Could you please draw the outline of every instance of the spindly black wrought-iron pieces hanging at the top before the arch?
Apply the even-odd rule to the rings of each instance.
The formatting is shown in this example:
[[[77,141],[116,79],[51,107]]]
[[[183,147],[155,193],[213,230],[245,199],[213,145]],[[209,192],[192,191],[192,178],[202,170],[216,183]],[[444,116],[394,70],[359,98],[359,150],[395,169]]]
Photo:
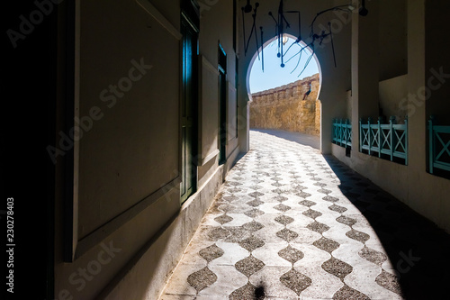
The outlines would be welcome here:
[[[243,34],[244,34],[244,49],[245,49],[245,55],[247,55],[247,50],[248,50],[248,45],[250,44],[250,40],[253,36],[253,34],[255,33],[255,41],[256,41],[256,46],[257,46],[257,57],[258,59],[263,59],[262,60],[262,68],[264,71],[264,49],[261,48],[261,57],[259,55],[259,42],[257,39],[257,8],[259,7],[259,3],[255,3],[255,7],[253,7],[253,5],[250,4],[250,0],[247,0],[247,5],[245,5],[244,7],[242,7],[242,23],[243,23]],[[302,68],[302,71],[300,72],[300,74],[298,75],[298,77],[300,77],[303,73],[303,71],[308,67],[308,65],[310,64],[311,59],[314,57],[315,54],[315,49],[316,47],[319,45],[323,44],[323,41],[326,38],[330,38],[330,43],[331,43],[331,50],[333,52],[333,61],[334,61],[334,65],[335,67],[337,67],[337,61],[336,61],[336,52],[335,52],[335,47],[334,47],[334,41],[333,41],[333,32],[332,32],[332,27],[331,27],[331,23],[328,23],[328,30],[322,30],[321,32],[316,32],[315,28],[314,28],[314,24],[317,21],[318,17],[321,14],[326,14],[329,12],[333,12],[333,11],[342,11],[342,12],[347,12],[347,13],[352,13],[355,10],[355,7],[351,4],[349,5],[338,5],[338,6],[334,6],[331,7],[329,9],[323,10],[319,13],[317,13],[315,15],[315,17],[313,18],[312,22],[311,22],[311,32],[310,32],[310,36],[309,38],[311,39],[311,41],[309,42],[305,42],[302,40],[302,15],[300,11],[284,11],[284,0],[280,0],[280,3],[278,5],[278,12],[276,14],[269,12],[268,15],[274,20],[275,22],[275,36],[277,39],[277,47],[278,47],[278,53],[277,53],[277,57],[280,59],[280,67],[284,68],[286,66],[286,64],[288,62],[290,62],[292,59],[294,58],[298,58],[297,60],[297,64],[295,66],[295,68],[293,68],[293,71],[291,72],[291,74],[300,66],[300,62],[302,60],[302,53],[303,51],[306,51],[307,49],[311,50],[311,54],[308,57],[308,59],[306,59],[306,62]],[[252,29],[251,32],[248,36],[248,38],[246,37],[246,22],[245,22],[245,15],[249,14],[253,12],[252,14],[252,18],[253,18],[253,24],[252,24]],[[284,45],[285,45],[285,41],[286,41],[286,35],[285,35],[285,29],[287,28],[291,28],[291,23],[288,21],[287,19],[287,14],[295,14],[297,16],[297,22],[298,22],[298,36],[297,39],[287,48],[287,50],[284,50]],[[361,16],[365,16],[368,14],[368,10],[365,7],[365,0],[362,0],[362,4],[361,7],[359,8],[359,14]],[[264,32],[263,32],[263,27],[260,26],[260,36],[261,36],[261,47],[263,46],[263,42],[264,42]],[[305,44],[305,46],[302,46],[302,44],[300,42],[303,42]],[[300,47],[300,49],[297,49],[297,52],[295,54],[293,54],[291,57],[289,57],[288,59],[285,59],[285,56],[290,53],[290,50],[294,47]]]

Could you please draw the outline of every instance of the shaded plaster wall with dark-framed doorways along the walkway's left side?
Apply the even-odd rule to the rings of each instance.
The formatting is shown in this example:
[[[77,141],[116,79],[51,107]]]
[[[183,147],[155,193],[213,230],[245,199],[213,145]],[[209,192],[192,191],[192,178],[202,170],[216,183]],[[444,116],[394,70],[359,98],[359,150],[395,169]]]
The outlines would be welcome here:
[[[233,4],[210,3],[201,14],[200,159],[197,191],[184,205],[180,1],[77,1],[75,18],[76,125],[86,130],[74,147],[73,215],[67,183],[57,186],[54,298],[157,299],[238,157]],[[227,52],[229,90],[228,161],[220,166],[218,41]],[[67,223],[75,227],[71,243]],[[75,258],[63,257],[67,245]]]

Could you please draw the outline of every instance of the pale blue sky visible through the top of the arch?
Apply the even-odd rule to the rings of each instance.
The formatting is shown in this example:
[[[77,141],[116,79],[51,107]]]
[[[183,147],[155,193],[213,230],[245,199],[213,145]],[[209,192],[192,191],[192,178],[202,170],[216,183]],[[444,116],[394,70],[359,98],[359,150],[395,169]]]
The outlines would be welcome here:
[[[294,41],[295,40],[289,38],[289,41],[284,46],[284,51],[287,50]],[[310,63],[308,64],[308,67],[303,71],[302,75],[298,77],[302,72],[307,59],[311,55],[310,50],[303,50],[302,60],[300,61],[299,66],[294,71],[293,69],[299,61],[299,56],[296,56],[289,62],[286,62],[301,49],[299,45],[293,45],[291,50],[289,50],[289,52],[284,56],[285,67],[281,68],[281,59],[276,56],[276,54],[278,53],[277,46],[278,42],[277,40],[275,40],[267,45],[264,49],[264,72],[262,70],[261,52],[259,53],[260,59],[255,60],[255,63],[253,64],[250,72],[249,79],[250,91],[252,94],[264,91],[269,88],[284,86],[304,77],[310,77],[313,74],[319,73],[319,68],[317,66],[316,60],[312,58]],[[291,72],[293,73],[291,74]]]

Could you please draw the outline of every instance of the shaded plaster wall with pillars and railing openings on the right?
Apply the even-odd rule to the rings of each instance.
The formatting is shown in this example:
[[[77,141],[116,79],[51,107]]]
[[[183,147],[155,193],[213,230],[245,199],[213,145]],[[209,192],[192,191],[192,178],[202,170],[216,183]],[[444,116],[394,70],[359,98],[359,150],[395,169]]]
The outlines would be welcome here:
[[[426,23],[425,23],[425,0],[408,1],[408,69],[407,77],[396,77],[392,80],[380,84],[383,90],[383,101],[389,102],[392,107],[397,107],[398,97],[404,95],[405,81],[406,93],[417,95],[420,88],[427,85],[426,68]],[[354,36],[358,35],[360,27],[353,27]],[[354,58],[361,55],[361,44],[353,45]],[[363,46],[364,47],[364,46]],[[376,61],[382,64],[382,61]],[[361,112],[358,114],[358,107],[366,105],[365,98],[358,98],[361,93],[355,91],[360,88],[358,81],[378,80],[365,77],[361,73],[361,66],[356,61],[354,64],[352,77],[356,86],[353,90],[353,137],[354,147],[351,158],[345,156],[345,149],[332,144],[332,153],[338,159],[344,161],[348,166],[358,173],[369,178],[375,185],[399,198],[413,210],[427,217],[437,226],[450,232],[450,195],[449,180],[443,177],[436,177],[427,173],[427,140],[426,140],[426,105],[416,105],[412,97],[408,97],[407,105],[414,105],[414,114],[409,115],[409,165],[392,163],[391,161],[371,157],[358,151],[357,122]],[[364,70],[363,70],[364,72]],[[363,85],[364,86],[364,85]],[[396,89],[396,87],[398,87]]]

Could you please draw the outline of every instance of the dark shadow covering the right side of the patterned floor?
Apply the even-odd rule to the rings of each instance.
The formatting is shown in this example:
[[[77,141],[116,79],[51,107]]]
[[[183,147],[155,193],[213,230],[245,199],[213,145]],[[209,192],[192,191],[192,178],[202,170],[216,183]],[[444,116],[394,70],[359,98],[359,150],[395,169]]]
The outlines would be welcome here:
[[[407,300],[450,299],[450,234],[335,157],[324,157],[342,193],[374,228],[396,269],[400,286],[395,277],[385,277],[383,284],[397,285]]]

